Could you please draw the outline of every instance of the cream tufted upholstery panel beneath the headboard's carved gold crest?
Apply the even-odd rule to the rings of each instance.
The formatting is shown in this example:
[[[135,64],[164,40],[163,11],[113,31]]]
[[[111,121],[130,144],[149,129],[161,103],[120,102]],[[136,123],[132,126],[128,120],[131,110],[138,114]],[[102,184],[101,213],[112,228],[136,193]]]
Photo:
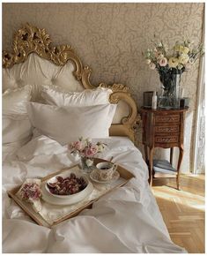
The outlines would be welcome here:
[[[63,66],[58,66],[32,53],[24,63],[3,70],[3,89],[31,84],[55,85],[70,92],[83,91],[84,87],[75,79],[72,72],[74,72],[74,65],[70,61]]]

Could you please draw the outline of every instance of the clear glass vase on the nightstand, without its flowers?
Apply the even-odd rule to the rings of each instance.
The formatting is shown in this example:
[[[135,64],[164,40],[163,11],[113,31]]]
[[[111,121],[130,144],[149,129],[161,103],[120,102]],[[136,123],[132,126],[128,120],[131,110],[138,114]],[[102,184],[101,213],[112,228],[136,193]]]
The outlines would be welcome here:
[[[181,73],[159,74],[163,94],[159,97],[160,109],[179,109]]]

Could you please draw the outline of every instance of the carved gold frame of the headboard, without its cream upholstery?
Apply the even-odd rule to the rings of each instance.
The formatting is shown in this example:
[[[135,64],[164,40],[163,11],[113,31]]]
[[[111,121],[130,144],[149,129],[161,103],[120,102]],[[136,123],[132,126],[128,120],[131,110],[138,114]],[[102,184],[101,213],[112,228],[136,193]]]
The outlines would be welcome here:
[[[31,53],[36,53],[56,65],[64,65],[69,60],[74,64],[74,77],[80,81],[84,88],[94,88],[90,82],[92,70],[83,66],[78,55],[71,49],[70,45],[52,46],[49,35],[45,29],[26,24],[14,34],[12,51],[3,51],[3,67],[11,68],[14,64],[26,61]],[[111,136],[128,136],[134,141],[135,124],[137,122],[137,105],[129,94],[129,87],[122,84],[106,85],[100,83],[100,87],[108,87],[113,90],[109,101],[118,103],[126,102],[129,106],[128,117],[122,117],[121,124],[112,124],[110,127]]]

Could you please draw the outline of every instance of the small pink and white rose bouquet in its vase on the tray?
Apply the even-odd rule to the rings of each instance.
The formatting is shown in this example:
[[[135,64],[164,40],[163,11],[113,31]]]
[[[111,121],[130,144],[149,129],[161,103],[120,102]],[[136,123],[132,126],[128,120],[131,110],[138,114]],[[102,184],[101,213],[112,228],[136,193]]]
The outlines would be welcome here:
[[[107,145],[102,142],[92,143],[92,139],[79,138],[78,141],[69,145],[71,154],[78,154],[81,157],[82,169],[89,172],[92,169],[95,154],[103,152]]]

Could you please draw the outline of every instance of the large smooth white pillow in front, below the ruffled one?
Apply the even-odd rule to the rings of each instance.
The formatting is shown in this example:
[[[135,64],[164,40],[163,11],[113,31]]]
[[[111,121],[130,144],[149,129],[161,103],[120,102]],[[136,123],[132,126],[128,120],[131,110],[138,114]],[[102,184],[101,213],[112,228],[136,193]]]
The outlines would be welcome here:
[[[115,115],[116,105],[90,107],[57,107],[28,102],[31,123],[41,134],[64,145],[85,138],[106,138]]]

